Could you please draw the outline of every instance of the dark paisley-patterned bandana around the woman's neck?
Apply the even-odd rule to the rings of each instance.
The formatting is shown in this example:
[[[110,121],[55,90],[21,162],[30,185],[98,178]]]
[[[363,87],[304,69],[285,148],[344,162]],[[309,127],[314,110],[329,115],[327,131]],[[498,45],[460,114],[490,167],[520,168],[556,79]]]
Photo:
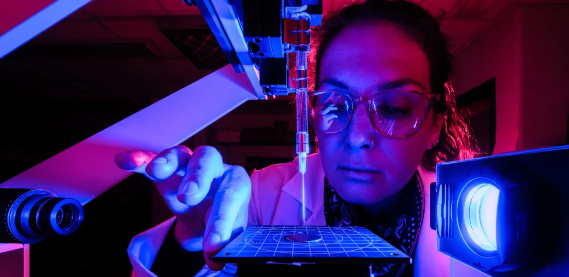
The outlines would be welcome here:
[[[423,221],[423,184],[419,172],[403,187],[388,211],[370,218],[364,208],[345,202],[324,178],[324,215],[327,225],[364,226],[413,258]],[[375,276],[413,276],[413,266],[381,263],[372,265]]]

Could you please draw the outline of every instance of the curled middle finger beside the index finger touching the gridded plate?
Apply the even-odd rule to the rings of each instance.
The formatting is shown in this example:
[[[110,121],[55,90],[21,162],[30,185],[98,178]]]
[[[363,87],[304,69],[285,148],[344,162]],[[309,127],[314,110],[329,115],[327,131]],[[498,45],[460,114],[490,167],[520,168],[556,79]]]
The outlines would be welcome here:
[[[224,173],[221,154],[211,146],[200,146],[188,161],[184,178],[178,188],[178,200],[197,205],[207,196],[213,179]]]

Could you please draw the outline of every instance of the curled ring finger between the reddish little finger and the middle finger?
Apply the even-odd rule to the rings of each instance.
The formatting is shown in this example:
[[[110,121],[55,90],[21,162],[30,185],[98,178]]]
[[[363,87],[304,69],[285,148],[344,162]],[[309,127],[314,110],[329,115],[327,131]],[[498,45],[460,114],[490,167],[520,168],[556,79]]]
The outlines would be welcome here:
[[[146,166],[146,173],[159,181],[168,179],[179,171],[185,170],[192,157],[192,150],[184,145],[177,145],[162,151]]]

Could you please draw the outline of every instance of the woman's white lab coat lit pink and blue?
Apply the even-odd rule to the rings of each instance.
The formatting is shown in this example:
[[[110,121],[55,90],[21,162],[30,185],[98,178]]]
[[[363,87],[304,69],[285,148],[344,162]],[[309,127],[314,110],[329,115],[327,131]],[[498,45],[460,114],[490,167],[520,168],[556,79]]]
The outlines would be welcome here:
[[[424,217],[413,260],[415,276],[450,276],[450,258],[436,249],[436,232],[430,228],[430,184],[435,173],[419,166],[423,183]],[[305,178],[306,223],[325,225],[324,170],[318,153],[307,158]],[[300,225],[302,222],[302,190],[298,161],[273,165],[251,174],[249,225]],[[133,266],[133,276],[156,276],[149,269],[168,234],[174,218],[133,238],[127,253]],[[195,276],[233,276],[236,267],[225,266],[222,271],[211,271],[207,266]]]

